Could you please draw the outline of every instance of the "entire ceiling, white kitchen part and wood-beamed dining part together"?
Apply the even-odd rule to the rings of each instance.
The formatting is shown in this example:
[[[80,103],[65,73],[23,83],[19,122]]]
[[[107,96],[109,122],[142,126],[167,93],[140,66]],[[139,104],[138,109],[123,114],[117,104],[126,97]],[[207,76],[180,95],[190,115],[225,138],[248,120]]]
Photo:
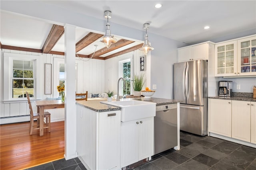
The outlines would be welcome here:
[[[92,57],[94,46],[98,45],[93,58],[103,60],[140,48],[143,23],[150,23],[148,37],[152,47],[156,47],[152,35],[154,39],[162,36],[186,46],[256,33],[255,0],[159,2],[162,8],[157,9],[157,0],[0,0],[0,46],[64,55],[65,23],[76,25],[76,57]],[[118,40],[109,48],[98,41],[105,29],[104,10],[112,11],[110,29]],[[207,30],[206,25],[210,26]],[[127,30],[130,32],[121,33]]]

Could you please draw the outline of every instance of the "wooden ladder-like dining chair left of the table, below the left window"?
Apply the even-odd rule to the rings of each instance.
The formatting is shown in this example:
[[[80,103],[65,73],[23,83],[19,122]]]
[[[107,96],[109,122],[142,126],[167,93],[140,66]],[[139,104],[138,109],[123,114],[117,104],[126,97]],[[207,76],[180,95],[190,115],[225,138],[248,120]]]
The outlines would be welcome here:
[[[30,102],[30,98],[28,95],[28,92],[26,92],[26,96],[28,99],[28,105],[29,105],[29,110],[30,110],[30,128],[29,128],[29,132],[30,135],[32,135],[33,130],[39,129],[39,119],[40,119],[40,115],[39,113],[33,113],[33,109],[32,109],[32,105]],[[51,131],[51,113],[49,113],[48,111],[44,112],[44,117],[46,118],[46,126],[44,126],[44,129],[48,128],[48,132]],[[34,119],[37,119],[37,124],[34,125]]]

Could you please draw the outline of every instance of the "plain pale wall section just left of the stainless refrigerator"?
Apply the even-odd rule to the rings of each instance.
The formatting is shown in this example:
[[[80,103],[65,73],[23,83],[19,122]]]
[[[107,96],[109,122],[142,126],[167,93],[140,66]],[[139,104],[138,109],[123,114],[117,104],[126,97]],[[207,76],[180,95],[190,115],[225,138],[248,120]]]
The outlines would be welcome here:
[[[178,62],[177,48],[182,43],[148,33],[151,46],[151,88],[156,84],[153,97],[173,99],[173,64]]]

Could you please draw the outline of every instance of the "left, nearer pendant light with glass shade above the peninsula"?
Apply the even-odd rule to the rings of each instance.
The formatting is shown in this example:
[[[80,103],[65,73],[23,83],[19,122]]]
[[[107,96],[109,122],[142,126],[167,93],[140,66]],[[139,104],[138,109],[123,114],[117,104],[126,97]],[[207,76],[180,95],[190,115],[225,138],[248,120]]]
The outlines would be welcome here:
[[[111,18],[111,11],[104,11],[105,18]],[[107,22],[106,23],[106,32],[103,37],[99,39],[100,42],[104,43],[105,46],[108,48],[112,43],[116,43],[117,39],[114,38],[113,35],[111,35],[110,31],[110,24]]]

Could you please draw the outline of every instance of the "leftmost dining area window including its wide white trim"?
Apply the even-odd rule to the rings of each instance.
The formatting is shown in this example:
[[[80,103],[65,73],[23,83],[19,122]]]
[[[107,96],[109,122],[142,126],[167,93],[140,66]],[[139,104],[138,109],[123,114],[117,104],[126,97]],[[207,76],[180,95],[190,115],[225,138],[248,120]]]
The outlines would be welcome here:
[[[4,53],[4,101],[41,99],[42,55]]]

